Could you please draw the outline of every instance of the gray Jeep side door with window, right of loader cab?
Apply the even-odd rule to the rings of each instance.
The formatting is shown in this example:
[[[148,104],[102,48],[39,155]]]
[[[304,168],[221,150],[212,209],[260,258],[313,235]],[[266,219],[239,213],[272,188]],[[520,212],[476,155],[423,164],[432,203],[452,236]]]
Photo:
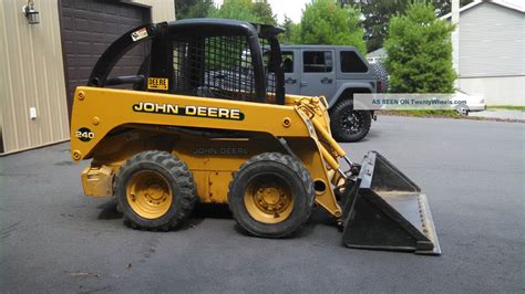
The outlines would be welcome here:
[[[336,66],[333,50],[301,50],[302,69],[300,94],[308,96],[323,95],[330,99],[336,94]]]

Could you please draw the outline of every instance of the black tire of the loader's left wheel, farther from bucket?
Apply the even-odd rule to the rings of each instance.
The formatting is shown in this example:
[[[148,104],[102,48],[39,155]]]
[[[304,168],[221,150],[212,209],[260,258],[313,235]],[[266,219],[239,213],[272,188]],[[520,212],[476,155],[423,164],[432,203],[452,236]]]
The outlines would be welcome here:
[[[172,192],[167,211],[158,218],[144,218],[135,211],[128,200],[130,180],[140,172],[152,172],[165,179]],[[150,150],[130,158],[119,170],[114,192],[124,223],[133,229],[168,231],[179,225],[193,211],[197,200],[195,182],[186,164],[166,151]]]

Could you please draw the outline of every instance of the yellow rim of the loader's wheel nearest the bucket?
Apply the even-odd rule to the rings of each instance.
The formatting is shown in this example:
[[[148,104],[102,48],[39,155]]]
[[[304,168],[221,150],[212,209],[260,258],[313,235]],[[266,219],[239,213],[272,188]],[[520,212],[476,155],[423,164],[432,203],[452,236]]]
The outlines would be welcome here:
[[[244,200],[250,217],[264,223],[282,222],[294,210],[290,188],[276,176],[253,179],[245,191]]]

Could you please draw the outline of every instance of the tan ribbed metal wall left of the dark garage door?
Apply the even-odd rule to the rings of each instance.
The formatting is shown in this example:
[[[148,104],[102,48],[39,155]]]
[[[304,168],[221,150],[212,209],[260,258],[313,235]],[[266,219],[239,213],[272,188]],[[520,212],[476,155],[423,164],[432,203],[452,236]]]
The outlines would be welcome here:
[[[0,111],[4,151],[69,138],[58,0],[34,1],[40,23],[22,13],[25,0],[0,1]],[[29,118],[29,108],[37,118]]]

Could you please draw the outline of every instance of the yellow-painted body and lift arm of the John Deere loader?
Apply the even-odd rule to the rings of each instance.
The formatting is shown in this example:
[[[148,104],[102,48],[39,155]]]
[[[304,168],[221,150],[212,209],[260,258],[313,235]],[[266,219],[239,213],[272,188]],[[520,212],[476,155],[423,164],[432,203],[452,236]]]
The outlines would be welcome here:
[[[325,160],[321,156],[322,149],[337,150],[339,147],[331,146],[332,141],[320,140],[330,134],[322,97],[313,99],[289,95],[285,105],[272,105],[97,87],[78,87],[75,97],[80,92],[83,92],[84,98],[74,99],[71,132],[75,134],[78,129],[89,126],[95,136],[89,141],[73,137],[71,150],[75,161],[92,158],[92,166],[106,166],[116,172],[125,160],[137,153],[165,150],[186,162],[194,176],[200,202],[226,203],[229,182],[240,165],[261,153],[287,154],[278,140],[284,138],[312,179],[330,183],[336,177],[325,161],[337,164],[336,155],[325,157]],[[142,107],[144,103],[152,103],[156,112],[137,112],[136,107],[143,109],[141,106],[134,109],[134,105],[140,103],[143,103]],[[187,106],[192,106],[192,115],[179,115],[181,109]],[[152,106],[147,107],[151,109]],[[165,109],[167,113],[163,113]],[[202,115],[198,115],[198,109],[202,109]],[[219,117],[219,109],[228,114]],[[92,124],[95,116],[100,118],[97,125]],[[315,125],[311,123],[313,118]],[[290,123],[284,124],[285,120]],[[209,130],[220,135],[206,136]],[[326,191],[316,193],[316,201],[339,218],[341,209],[332,188],[327,187]],[[268,201],[271,202],[271,199]]]

